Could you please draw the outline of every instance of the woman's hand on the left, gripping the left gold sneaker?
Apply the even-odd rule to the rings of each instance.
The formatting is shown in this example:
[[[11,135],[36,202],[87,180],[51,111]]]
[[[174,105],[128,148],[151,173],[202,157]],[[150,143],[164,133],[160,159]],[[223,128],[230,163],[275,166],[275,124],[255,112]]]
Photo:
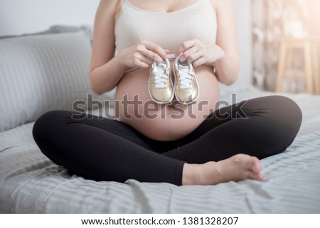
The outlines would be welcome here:
[[[149,67],[151,63],[156,61],[161,63],[166,59],[166,54],[169,50],[161,48],[159,45],[150,43],[148,41],[142,41],[129,48],[122,50],[119,63],[125,67]]]

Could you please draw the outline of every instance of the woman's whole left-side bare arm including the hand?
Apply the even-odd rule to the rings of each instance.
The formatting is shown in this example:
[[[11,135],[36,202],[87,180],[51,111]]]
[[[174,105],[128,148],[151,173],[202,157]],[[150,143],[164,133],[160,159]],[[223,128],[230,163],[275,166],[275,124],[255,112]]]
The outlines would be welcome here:
[[[114,21],[121,6],[122,1],[100,0],[95,16],[90,82],[97,94],[116,87],[128,67],[149,67],[154,61],[161,63],[169,53],[159,45],[142,41],[114,56]]]

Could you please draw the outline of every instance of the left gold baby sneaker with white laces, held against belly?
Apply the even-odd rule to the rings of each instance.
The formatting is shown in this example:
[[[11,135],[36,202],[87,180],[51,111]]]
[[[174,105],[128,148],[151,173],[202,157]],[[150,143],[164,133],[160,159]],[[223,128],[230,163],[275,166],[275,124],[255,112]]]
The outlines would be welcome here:
[[[158,104],[169,104],[174,99],[174,87],[168,59],[150,65],[148,89],[151,99]]]

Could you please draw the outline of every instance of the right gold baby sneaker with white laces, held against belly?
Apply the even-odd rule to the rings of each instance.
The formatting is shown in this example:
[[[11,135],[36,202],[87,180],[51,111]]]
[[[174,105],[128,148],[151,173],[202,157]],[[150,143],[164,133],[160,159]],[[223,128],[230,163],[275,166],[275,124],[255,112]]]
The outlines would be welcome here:
[[[182,55],[182,54],[181,54]],[[193,104],[199,97],[199,86],[191,63],[179,61],[179,55],[174,61],[174,93],[180,104]]]

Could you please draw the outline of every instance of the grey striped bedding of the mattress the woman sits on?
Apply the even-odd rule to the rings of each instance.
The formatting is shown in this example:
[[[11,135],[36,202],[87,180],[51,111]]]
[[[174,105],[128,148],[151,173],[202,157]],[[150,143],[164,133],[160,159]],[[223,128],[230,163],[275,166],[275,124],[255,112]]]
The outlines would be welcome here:
[[[232,95],[235,94],[235,95]],[[222,87],[230,103],[273,94]],[[284,153],[262,160],[264,182],[218,185],[96,182],[55,165],[33,141],[33,123],[0,133],[1,213],[320,213],[320,97],[283,94],[304,115]]]

